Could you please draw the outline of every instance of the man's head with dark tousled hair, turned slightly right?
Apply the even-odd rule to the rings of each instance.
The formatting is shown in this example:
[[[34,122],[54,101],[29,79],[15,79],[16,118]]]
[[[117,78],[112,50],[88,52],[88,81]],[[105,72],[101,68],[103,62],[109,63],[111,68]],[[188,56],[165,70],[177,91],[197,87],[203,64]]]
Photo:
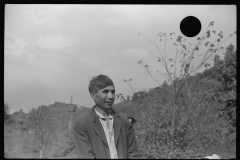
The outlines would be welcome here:
[[[102,109],[112,107],[115,100],[115,87],[113,81],[105,76],[99,75],[90,80],[88,90],[96,105]]]

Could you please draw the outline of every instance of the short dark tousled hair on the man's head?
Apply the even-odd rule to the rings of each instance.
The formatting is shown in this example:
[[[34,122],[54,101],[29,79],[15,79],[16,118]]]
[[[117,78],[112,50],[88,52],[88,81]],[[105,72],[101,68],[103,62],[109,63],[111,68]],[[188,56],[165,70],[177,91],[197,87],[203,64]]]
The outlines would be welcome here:
[[[88,85],[88,90],[90,93],[96,93],[99,89],[111,85],[114,87],[113,81],[108,76],[100,74],[99,76],[92,77]]]

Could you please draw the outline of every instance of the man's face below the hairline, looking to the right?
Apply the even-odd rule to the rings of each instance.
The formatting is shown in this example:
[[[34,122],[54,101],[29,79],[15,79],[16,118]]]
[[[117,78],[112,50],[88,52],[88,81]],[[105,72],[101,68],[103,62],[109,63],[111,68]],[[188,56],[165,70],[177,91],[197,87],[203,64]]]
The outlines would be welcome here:
[[[103,109],[111,108],[115,100],[115,88],[112,85],[107,86],[91,95],[97,106]]]

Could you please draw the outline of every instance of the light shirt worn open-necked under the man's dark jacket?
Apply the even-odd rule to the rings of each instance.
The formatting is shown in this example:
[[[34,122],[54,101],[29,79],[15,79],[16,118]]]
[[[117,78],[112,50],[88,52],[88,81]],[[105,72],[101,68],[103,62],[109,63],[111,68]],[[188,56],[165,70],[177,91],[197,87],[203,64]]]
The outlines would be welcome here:
[[[114,130],[113,130],[113,116],[110,114],[108,118],[104,117],[100,112],[94,108],[96,114],[99,117],[99,121],[102,124],[105,136],[108,142],[111,159],[118,159],[116,146],[114,143]]]

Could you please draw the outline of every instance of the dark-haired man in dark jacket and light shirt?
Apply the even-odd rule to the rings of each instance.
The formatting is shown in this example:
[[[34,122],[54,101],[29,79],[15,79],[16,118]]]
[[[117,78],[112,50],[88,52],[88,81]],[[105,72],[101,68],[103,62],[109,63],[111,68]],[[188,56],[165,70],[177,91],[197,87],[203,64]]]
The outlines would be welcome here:
[[[88,89],[96,105],[74,125],[79,158],[138,158],[132,125],[124,118],[126,116],[112,109],[113,81],[99,75],[93,77]]]

